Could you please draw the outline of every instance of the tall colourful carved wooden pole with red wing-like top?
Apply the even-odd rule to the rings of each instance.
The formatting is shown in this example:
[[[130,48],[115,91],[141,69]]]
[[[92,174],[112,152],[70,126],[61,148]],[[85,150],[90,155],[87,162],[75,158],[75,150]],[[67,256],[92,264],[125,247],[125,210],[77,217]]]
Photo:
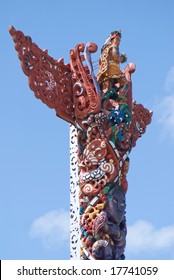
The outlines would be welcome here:
[[[21,31],[12,26],[9,31],[30,89],[71,124],[71,184],[78,195],[73,194],[73,232],[80,234],[73,243],[79,242],[80,259],[123,260],[129,153],[152,112],[132,100],[135,64],[120,69],[127,60],[119,52],[121,31],[104,43],[97,75],[91,60],[96,44],[78,44],[70,51],[70,64],[64,64]]]

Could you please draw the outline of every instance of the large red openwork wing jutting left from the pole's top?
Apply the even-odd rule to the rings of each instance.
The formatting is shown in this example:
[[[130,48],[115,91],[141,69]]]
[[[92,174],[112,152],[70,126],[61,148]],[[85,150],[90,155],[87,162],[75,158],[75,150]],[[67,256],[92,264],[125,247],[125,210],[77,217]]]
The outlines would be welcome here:
[[[70,65],[65,65],[63,59],[53,59],[47,50],[41,50],[29,36],[15,30],[13,26],[10,26],[9,32],[22,70],[28,76],[29,87],[36,98],[49,108],[54,108],[57,116],[74,124]]]

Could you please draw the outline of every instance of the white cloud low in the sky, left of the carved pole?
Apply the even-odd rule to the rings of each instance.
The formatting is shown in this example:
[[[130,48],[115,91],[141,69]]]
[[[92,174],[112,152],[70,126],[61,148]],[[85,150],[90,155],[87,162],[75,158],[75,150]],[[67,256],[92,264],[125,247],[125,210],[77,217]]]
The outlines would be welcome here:
[[[65,210],[50,211],[31,225],[30,236],[40,239],[47,249],[56,249],[69,239],[70,213]]]

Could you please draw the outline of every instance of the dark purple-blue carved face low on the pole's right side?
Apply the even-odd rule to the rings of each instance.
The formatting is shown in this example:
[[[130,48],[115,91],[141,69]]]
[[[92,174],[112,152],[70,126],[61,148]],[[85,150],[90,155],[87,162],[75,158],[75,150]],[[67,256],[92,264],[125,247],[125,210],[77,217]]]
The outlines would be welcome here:
[[[121,187],[116,187],[108,196],[108,212],[113,222],[120,224],[126,209],[125,194]]]

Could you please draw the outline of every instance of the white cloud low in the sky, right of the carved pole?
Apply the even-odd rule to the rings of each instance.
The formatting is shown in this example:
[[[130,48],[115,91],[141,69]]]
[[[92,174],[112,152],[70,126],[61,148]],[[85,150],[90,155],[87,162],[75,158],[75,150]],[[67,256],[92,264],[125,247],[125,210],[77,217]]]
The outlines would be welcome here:
[[[128,227],[127,248],[129,255],[139,253],[159,253],[174,251],[174,225],[156,229],[151,223],[143,220],[136,221]]]

